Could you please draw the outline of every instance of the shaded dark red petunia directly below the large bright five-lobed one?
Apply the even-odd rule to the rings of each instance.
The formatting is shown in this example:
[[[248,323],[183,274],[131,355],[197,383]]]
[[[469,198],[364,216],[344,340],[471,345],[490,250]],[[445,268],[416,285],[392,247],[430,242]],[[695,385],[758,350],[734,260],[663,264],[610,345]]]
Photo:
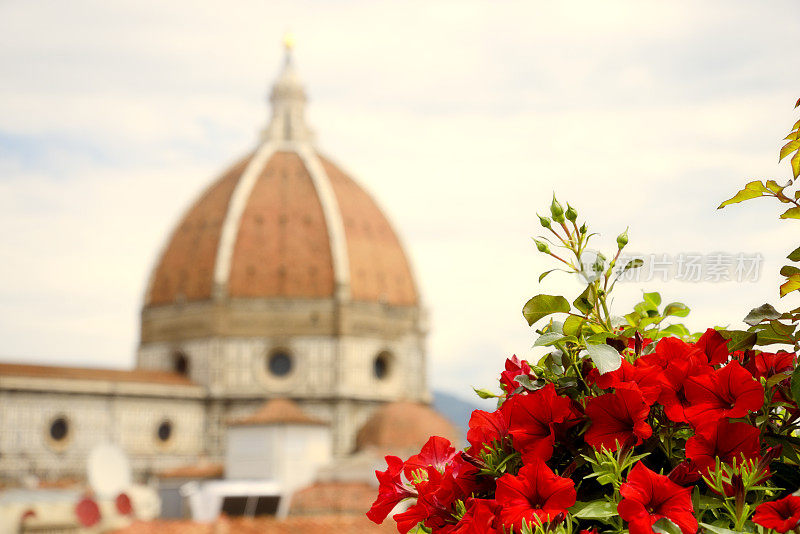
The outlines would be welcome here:
[[[761,455],[758,439],[758,429],[747,423],[710,421],[686,440],[686,458],[695,463],[699,472],[706,473],[716,466],[716,458],[727,464],[733,463],[734,458],[757,459]]]

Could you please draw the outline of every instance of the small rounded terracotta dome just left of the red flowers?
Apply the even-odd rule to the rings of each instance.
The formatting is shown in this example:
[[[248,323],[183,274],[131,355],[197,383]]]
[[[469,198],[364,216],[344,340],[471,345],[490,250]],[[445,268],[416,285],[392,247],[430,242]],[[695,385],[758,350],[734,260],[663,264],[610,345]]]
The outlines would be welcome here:
[[[379,408],[356,435],[356,451],[419,450],[431,436],[441,436],[454,446],[459,434],[443,415],[414,402],[392,402]]]

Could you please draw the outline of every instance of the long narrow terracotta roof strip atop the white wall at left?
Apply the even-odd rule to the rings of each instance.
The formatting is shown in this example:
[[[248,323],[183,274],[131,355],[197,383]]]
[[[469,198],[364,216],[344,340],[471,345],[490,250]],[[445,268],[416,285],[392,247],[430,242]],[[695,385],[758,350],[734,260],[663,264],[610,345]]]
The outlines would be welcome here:
[[[0,363],[0,377],[25,376],[32,378],[61,378],[71,380],[107,380],[109,382],[144,382],[193,386],[194,382],[179,373],[146,369],[96,369],[89,367],[57,367]]]

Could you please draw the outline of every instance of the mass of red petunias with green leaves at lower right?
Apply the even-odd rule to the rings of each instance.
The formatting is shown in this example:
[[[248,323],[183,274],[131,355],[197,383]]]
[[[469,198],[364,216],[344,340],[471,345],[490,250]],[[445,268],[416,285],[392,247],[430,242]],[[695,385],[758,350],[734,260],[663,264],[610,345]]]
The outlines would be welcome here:
[[[368,517],[406,502],[401,533],[741,532],[753,512],[765,528],[800,528],[800,497],[773,500],[797,489],[796,464],[773,470],[798,441],[795,355],[729,351],[713,329],[620,339],[617,369],[587,357],[569,380],[508,359],[498,408],[472,413],[468,447],[432,437],[405,462],[388,456]]]

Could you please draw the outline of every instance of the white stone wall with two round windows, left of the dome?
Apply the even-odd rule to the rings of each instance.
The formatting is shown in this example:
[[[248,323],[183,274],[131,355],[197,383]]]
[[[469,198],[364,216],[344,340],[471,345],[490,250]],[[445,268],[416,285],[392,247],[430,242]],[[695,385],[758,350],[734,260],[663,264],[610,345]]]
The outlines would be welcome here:
[[[61,442],[50,438],[57,417],[69,425]],[[89,451],[103,441],[119,445],[139,475],[193,462],[203,452],[204,419],[199,399],[0,390],[0,476],[82,477]],[[172,436],[161,442],[165,420]]]

